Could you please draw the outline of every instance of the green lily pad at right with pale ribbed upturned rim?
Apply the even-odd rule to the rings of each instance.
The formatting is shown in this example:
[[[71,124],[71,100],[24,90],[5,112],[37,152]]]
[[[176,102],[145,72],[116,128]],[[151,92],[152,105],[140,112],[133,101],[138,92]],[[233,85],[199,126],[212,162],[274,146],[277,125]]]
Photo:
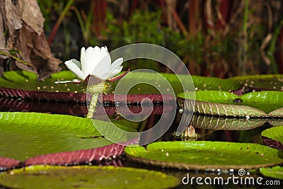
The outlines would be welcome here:
[[[192,92],[180,93],[178,97],[183,99],[193,99]],[[262,116],[275,116],[275,117],[282,117],[282,111],[277,111],[271,113],[272,111],[276,110],[277,108],[283,107],[283,92],[281,91],[260,91],[260,92],[253,92],[253,93],[246,93],[243,96],[236,96],[233,93],[229,93],[227,91],[196,91],[195,92],[195,100],[196,101],[204,101],[205,103],[196,103],[200,107],[196,106],[196,111],[200,108],[200,113],[208,113],[211,109],[216,110],[217,107],[219,110],[216,110],[216,114],[214,115],[226,115],[229,116],[229,111],[234,111],[237,113],[238,110],[241,110],[242,113],[239,113],[238,116],[248,115],[255,116],[255,117],[262,117]],[[183,103],[183,100],[179,99],[180,103]],[[205,106],[205,108],[203,108]],[[231,105],[231,106],[230,106]],[[234,106],[237,105],[237,106]],[[248,108],[250,107],[250,108]],[[203,109],[203,110],[202,110]],[[226,113],[225,113],[226,110]],[[263,113],[264,111],[265,113]],[[230,115],[235,116],[235,113],[230,113]],[[205,113],[204,113],[205,114]],[[258,116],[256,115],[258,114]],[[237,116],[237,115],[236,115]]]

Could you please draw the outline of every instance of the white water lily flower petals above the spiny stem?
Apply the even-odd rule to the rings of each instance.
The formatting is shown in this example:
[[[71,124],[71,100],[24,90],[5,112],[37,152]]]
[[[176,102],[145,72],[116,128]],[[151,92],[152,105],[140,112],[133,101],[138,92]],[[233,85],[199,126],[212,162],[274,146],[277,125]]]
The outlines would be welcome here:
[[[67,68],[76,74],[79,79],[85,80],[88,75],[100,79],[111,79],[122,71],[123,58],[116,59],[111,64],[111,58],[107,47],[81,48],[81,62],[76,59],[66,61]]]

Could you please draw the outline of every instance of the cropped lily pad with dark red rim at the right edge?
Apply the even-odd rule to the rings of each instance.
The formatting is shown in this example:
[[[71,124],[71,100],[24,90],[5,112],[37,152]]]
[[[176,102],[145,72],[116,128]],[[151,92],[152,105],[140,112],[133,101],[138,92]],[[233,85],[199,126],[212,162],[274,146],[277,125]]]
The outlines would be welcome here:
[[[283,126],[264,130],[261,132],[261,137],[267,146],[283,150]]]

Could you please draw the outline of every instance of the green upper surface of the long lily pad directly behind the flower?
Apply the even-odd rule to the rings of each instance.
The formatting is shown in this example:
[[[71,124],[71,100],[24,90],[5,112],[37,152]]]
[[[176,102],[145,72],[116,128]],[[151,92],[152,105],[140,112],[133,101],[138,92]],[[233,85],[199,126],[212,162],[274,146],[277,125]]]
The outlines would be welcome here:
[[[204,76],[191,76],[192,81],[188,81],[187,75],[178,75],[175,74],[165,74],[161,73],[161,75],[173,86],[175,93],[183,92],[183,88],[180,85],[180,81],[178,77],[185,81],[185,84],[195,84],[197,90],[221,90],[221,91],[229,91],[229,90],[236,90],[241,88],[241,84],[238,84],[238,81],[231,81],[228,79],[219,79],[214,77],[204,77]],[[156,81],[156,74],[151,72],[134,72],[127,76],[125,76],[129,81]],[[68,91],[80,91],[80,87],[74,84],[54,84],[54,81],[67,81],[76,79],[76,76],[71,71],[61,71],[59,73],[52,74],[49,79],[45,79],[45,81],[37,81],[37,75],[30,71],[6,71],[4,72],[4,76],[0,77],[0,84],[3,87],[7,88],[18,88],[23,90],[29,91],[61,91],[61,92],[68,92]],[[159,79],[160,80],[160,79]],[[161,80],[160,80],[161,81]],[[158,82],[158,81],[157,81]],[[115,82],[117,84],[117,82]],[[24,85],[23,85],[24,84]],[[161,83],[162,85],[162,83]],[[115,84],[114,84],[115,86]],[[143,85],[146,86],[148,85]],[[134,86],[134,88],[138,89],[140,86]],[[69,89],[68,89],[69,88]],[[141,94],[143,91],[146,90],[132,90],[132,91],[139,91]],[[149,91],[156,89],[147,88]]]

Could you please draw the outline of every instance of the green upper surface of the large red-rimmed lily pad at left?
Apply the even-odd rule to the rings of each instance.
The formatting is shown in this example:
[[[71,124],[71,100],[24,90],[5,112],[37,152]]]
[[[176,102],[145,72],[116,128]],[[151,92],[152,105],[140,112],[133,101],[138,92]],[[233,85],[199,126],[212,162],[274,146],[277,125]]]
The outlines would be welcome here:
[[[109,122],[93,122],[101,127],[110,127]],[[100,137],[93,122],[71,115],[0,113],[0,156],[23,161],[41,154],[93,149],[112,144]],[[129,132],[136,131],[117,126]],[[113,135],[121,142],[127,141],[120,134]]]

